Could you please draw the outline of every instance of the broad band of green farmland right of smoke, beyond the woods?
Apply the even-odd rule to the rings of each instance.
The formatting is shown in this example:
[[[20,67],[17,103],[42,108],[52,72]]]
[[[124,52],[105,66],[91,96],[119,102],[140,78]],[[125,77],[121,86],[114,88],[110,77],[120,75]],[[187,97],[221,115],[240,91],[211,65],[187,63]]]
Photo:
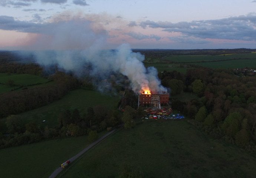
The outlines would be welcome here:
[[[145,66],[154,66],[158,72],[176,70],[186,73],[194,67],[235,69],[241,67],[256,68],[256,53],[232,53],[222,55],[166,55],[161,59],[146,56]]]

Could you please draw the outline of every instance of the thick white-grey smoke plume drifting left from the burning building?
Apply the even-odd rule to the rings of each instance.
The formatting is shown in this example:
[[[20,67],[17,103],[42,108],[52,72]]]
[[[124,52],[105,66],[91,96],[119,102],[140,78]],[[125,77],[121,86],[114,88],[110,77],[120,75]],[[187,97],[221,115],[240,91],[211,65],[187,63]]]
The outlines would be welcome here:
[[[161,85],[154,67],[146,68],[142,63],[145,59],[140,53],[134,53],[128,44],[122,44],[115,50],[105,50],[107,32],[100,26],[85,19],[71,19],[48,24],[43,28],[34,45],[39,49],[34,54],[37,63],[42,66],[58,65],[60,69],[71,71],[82,76],[84,68],[89,74],[104,79],[112,73],[127,76],[135,93],[143,89],[153,92],[167,91]]]

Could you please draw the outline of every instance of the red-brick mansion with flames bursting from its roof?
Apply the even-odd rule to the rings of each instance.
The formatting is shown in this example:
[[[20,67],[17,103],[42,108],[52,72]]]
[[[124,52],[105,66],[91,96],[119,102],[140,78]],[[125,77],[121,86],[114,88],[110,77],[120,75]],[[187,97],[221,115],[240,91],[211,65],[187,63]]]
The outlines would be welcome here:
[[[138,104],[140,106],[154,106],[160,108],[160,105],[168,104],[169,96],[167,92],[151,92],[145,90],[139,95]]]

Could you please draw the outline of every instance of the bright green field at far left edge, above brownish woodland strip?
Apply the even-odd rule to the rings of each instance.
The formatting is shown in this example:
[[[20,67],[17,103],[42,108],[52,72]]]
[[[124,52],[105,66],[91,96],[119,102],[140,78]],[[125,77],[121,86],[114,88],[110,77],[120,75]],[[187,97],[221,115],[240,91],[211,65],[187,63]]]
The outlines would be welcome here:
[[[13,80],[15,86],[4,85],[8,80]],[[48,82],[48,83],[47,83]],[[9,92],[13,89],[17,89],[20,86],[40,86],[49,85],[48,79],[41,76],[30,75],[30,74],[12,74],[12,73],[0,73],[0,94]]]

